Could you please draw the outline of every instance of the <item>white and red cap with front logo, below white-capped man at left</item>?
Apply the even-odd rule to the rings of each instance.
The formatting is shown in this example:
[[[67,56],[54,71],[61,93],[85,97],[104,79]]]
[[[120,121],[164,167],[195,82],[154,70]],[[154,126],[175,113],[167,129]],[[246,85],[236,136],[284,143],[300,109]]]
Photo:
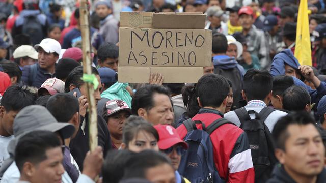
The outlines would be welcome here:
[[[65,82],[58,78],[49,78],[37,90],[38,95],[40,96],[44,90],[50,93],[50,95],[63,93],[65,92]]]

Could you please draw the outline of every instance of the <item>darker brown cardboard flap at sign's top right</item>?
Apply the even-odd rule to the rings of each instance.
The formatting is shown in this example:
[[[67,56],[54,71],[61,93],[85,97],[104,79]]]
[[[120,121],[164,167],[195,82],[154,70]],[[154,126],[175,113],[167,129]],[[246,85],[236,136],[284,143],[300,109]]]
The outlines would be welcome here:
[[[152,28],[204,29],[205,14],[164,14],[153,13]]]

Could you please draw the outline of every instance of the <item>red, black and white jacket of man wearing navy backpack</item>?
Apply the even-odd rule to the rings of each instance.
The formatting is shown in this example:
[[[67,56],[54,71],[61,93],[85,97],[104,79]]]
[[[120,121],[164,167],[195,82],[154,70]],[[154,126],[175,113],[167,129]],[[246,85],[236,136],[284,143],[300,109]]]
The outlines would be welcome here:
[[[209,126],[223,114],[213,109],[201,109],[192,119],[200,120]],[[196,124],[202,129],[201,124]],[[183,139],[187,129],[182,124],[177,132]],[[239,127],[224,124],[210,135],[213,144],[215,166],[221,178],[227,182],[254,182],[255,171],[247,134]]]

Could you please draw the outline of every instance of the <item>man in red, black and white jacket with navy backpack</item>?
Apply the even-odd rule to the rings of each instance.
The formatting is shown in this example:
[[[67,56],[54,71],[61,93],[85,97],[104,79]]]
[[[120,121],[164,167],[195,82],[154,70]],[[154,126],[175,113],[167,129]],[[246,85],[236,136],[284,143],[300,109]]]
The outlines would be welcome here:
[[[220,75],[207,74],[198,81],[194,89],[198,93],[198,103],[202,108],[192,120],[196,121],[196,128],[200,130],[187,131],[188,126],[186,127],[186,124],[183,123],[177,128],[177,132],[181,138],[184,138],[185,141],[189,143],[188,152],[194,150],[191,142],[187,140],[187,137],[189,137],[191,133],[204,132],[205,130],[205,132],[210,134],[210,138],[206,138],[206,143],[203,143],[203,141],[200,142],[201,145],[198,149],[202,147],[204,147],[204,149],[210,149],[210,146],[212,147],[212,151],[205,152],[205,156],[202,156],[202,154],[198,154],[198,156],[205,157],[206,160],[201,159],[201,162],[206,162],[207,164],[211,163],[209,157],[211,155],[213,156],[213,167],[218,171],[218,178],[216,178],[215,172],[210,172],[209,175],[213,176],[215,179],[207,181],[207,179],[210,178],[210,176],[208,176],[207,179],[204,177],[202,180],[204,182],[219,182],[219,178],[222,178],[228,182],[254,182],[255,173],[246,133],[235,125],[230,124],[231,122],[221,120],[221,118],[223,118],[223,113],[221,111],[225,111],[228,94],[230,92],[230,85],[227,79]],[[215,123],[217,119],[220,120],[218,123]],[[210,128],[211,124],[220,127]],[[210,131],[207,129],[210,129]],[[202,137],[199,138],[205,137],[205,134],[202,133]],[[197,150],[197,152],[200,151],[202,151],[202,149]],[[187,158],[187,156],[189,157],[188,153],[186,156],[183,156],[183,158]],[[184,166],[182,165],[182,160],[180,167]],[[188,160],[186,169],[193,169],[199,167],[199,165],[204,167],[200,162]],[[206,167],[207,166],[209,165],[206,165]],[[205,172],[205,170],[198,169],[196,173],[198,172]],[[180,174],[182,173],[180,172]],[[185,177],[188,178],[187,176]],[[201,182],[201,180],[190,181]]]

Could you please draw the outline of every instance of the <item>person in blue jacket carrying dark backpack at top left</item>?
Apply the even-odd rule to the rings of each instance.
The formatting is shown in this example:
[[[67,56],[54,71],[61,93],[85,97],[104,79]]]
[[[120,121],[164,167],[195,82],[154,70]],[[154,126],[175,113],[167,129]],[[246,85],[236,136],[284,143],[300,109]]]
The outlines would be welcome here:
[[[28,35],[33,45],[38,44],[47,36],[48,27],[46,16],[41,14],[40,10],[36,10],[35,6],[37,4],[32,1],[24,0],[24,10],[17,17],[11,33],[13,38],[19,34]]]

